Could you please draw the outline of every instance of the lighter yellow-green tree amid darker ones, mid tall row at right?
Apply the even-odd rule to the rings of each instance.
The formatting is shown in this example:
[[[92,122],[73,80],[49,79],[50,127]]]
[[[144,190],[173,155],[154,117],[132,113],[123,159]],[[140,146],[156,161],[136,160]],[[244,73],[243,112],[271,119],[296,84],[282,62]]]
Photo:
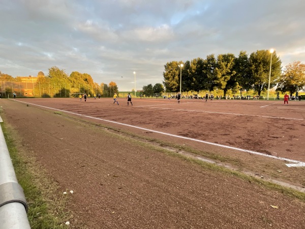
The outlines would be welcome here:
[[[224,91],[226,96],[227,90],[232,88],[232,85],[228,84],[230,78],[235,75],[233,70],[235,56],[232,53],[219,54],[217,56],[217,64],[215,69],[215,75],[217,76],[217,85],[219,89]],[[234,80],[232,80],[233,84]]]

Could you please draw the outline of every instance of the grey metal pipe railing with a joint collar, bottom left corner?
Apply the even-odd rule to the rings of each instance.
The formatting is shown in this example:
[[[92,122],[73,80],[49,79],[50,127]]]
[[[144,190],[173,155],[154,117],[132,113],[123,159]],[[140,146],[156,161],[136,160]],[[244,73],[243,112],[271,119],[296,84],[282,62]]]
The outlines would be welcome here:
[[[0,229],[31,229],[26,212],[27,203],[23,189],[18,184],[0,126]]]

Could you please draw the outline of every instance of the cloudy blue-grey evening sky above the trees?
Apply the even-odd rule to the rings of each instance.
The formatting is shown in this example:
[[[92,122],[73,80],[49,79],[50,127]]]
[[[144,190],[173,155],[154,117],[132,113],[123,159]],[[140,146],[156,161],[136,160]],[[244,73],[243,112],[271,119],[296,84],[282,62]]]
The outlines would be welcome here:
[[[0,71],[56,66],[131,91],[213,53],[273,48],[284,68],[305,63],[304,12],[303,0],[0,0]]]

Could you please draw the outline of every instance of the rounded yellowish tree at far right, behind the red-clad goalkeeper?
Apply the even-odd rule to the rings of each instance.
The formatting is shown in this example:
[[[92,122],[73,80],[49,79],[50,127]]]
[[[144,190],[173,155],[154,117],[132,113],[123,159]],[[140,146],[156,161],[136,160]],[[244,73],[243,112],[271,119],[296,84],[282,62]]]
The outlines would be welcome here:
[[[305,87],[305,64],[295,61],[286,65],[284,74],[280,77],[277,91],[293,93]]]

